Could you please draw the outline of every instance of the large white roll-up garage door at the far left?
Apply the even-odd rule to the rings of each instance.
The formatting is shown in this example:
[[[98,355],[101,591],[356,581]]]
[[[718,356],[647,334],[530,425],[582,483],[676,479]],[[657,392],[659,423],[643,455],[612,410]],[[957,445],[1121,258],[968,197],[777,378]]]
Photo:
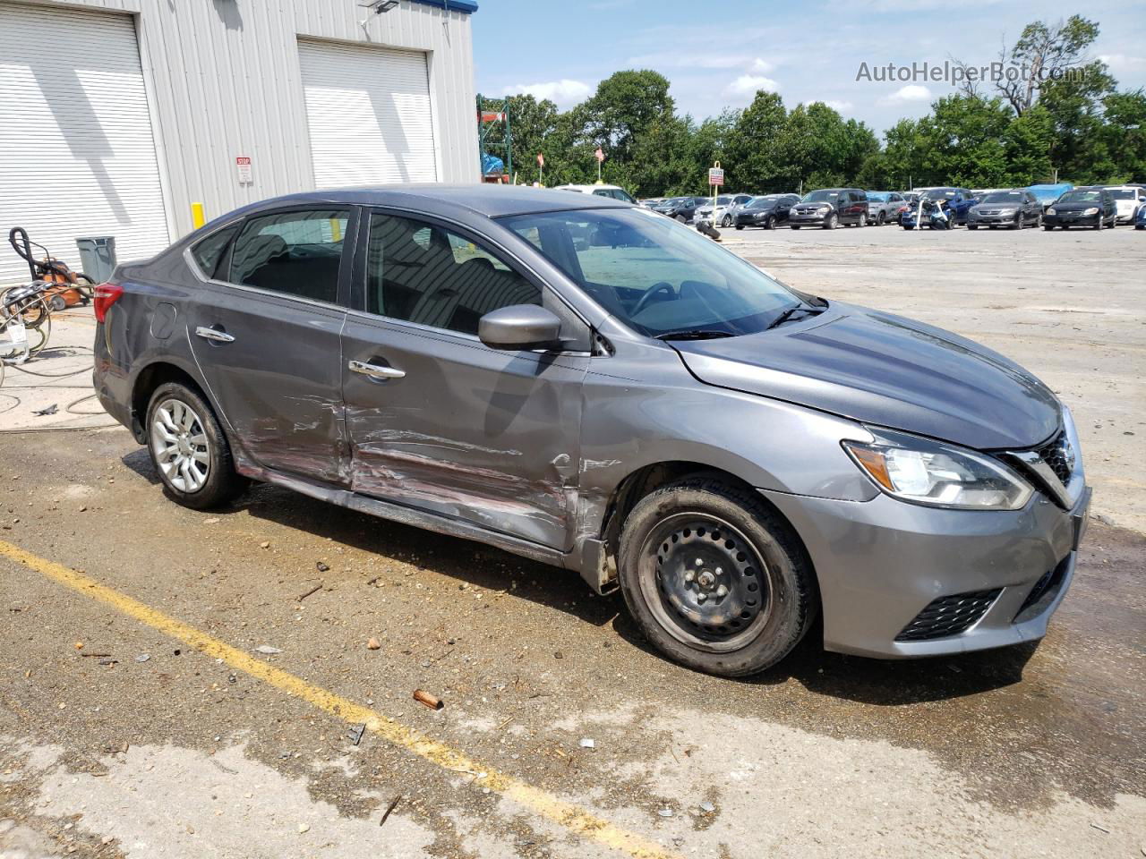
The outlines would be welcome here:
[[[17,226],[77,270],[77,236],[120,260],[167,245],[129,15],[0,2],[0,283],[28,278]]]

